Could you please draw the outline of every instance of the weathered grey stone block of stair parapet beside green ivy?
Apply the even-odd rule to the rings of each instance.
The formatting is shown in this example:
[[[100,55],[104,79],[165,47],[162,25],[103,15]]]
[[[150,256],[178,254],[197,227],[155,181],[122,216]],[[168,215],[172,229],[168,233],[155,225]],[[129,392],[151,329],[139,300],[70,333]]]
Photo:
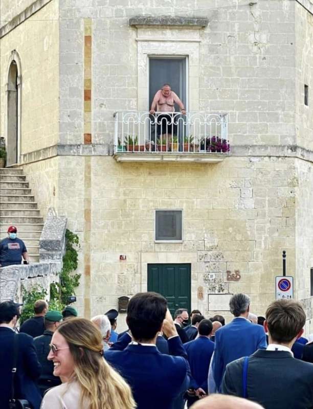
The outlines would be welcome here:
[[[66,217],[50,208],[39,241],[39,263],[61,262],[65,253]]]

